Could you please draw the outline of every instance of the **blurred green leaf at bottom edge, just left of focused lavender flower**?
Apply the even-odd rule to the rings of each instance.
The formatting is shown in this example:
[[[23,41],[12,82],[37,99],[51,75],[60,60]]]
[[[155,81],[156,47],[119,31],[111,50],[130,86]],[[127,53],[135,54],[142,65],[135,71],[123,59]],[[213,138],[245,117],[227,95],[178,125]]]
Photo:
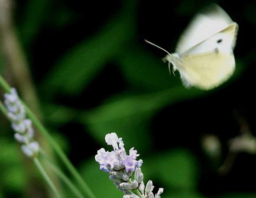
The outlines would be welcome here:
[[[108,174],[100,170],[99,164],[91,157],[81,166],[81,175],[87,181],[97,198],[119,198],[123,193],[116,189]]]

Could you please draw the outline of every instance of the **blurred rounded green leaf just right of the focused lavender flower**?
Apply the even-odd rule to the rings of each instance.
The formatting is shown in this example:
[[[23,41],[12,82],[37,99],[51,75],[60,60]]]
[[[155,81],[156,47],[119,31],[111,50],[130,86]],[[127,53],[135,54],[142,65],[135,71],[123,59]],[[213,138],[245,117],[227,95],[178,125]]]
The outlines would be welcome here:
[[[185,149],[177,148],[145,159],[142,171],[146,180],[157,178],[165,188],[178,189],[180,192],[196,192],[198,163],[194,154]]]

